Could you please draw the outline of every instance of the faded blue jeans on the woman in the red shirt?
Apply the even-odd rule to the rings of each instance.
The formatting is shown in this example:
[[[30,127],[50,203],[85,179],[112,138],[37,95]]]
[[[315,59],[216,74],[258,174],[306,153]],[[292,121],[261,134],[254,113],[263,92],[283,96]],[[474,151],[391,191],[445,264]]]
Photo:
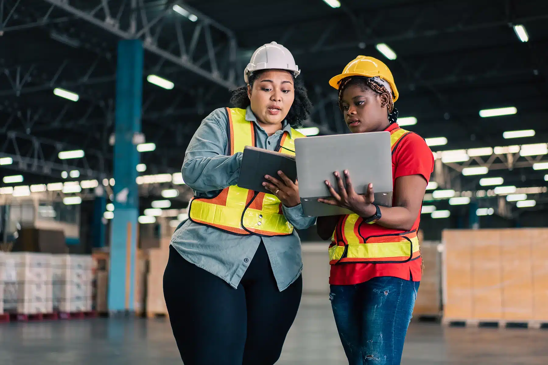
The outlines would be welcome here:
[[[382,276],[332,285],[329,299],[349,365],[399,365],[418,281]]]

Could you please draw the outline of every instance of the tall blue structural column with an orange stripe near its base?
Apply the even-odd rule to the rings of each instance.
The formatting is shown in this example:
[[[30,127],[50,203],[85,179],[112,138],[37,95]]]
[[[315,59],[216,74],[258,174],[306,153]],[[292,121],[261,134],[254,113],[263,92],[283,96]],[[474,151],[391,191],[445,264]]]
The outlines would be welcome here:
[[[141,132],[143,48],[140,40],[118,42],[116,66],[116,143],[114,146],[114,218],[110,233],[109,310],[134,310],[139,152],[134,135]]]

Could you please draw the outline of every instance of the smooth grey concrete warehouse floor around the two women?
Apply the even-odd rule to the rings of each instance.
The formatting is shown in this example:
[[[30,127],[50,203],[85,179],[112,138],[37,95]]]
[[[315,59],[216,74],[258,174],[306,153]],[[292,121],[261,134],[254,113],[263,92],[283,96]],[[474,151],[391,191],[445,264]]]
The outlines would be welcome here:
[[[546,365],[548,331],[412,323],[404,365]],[[181,364],[165,320],[0,323],[2,365]],[[347,364],[327,298],[304,297],[281,365]]]

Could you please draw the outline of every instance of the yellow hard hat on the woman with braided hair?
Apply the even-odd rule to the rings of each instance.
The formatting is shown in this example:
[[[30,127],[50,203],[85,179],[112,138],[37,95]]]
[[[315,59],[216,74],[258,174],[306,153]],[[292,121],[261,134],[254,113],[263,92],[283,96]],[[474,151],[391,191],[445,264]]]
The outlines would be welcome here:
[[[339,90],[339,82],[345,77],[349,76],[363,76],[363,77],[378,77],[381,83],[387,82],[392,89],[393,101],[398,100],[398,89],[396,89],[396,83],[392,72],[384,62],[379,61],[369,56],[357,56],[346,67],[343,72],[329,80],[329,85]],[[384,81],[384,82],[383,82]]]

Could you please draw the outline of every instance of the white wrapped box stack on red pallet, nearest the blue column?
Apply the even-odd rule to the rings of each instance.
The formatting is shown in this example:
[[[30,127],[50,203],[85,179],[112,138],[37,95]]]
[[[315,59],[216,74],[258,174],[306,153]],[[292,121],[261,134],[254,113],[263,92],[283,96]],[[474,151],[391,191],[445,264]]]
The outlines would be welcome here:
[[[52,259],[53,306],[60,312],[92,310],[91,256],[55,255]]]

